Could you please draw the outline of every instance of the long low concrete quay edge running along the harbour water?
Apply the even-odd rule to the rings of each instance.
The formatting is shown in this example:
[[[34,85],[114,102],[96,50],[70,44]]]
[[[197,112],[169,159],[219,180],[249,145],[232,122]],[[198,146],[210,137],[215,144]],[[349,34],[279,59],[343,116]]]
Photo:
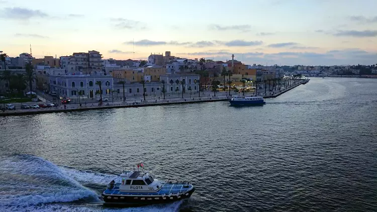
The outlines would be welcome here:
[[[300,81],[290,87],[286,87],[280,91],[274,92],[267,92],[267,94],[254,94],[250,95],[250,93],[245,94],[245,96],[263,96],[263,98],[273,98],[279,96],[301,84],[305,81]],[[221,93],[221,92],[220,92]],[[227,93],[227,92],[226,92]],[[264,93],[264,92],[263,92]],[[213,94],[213,92],[212,92]],[[242,95],[242,93],[240,93]],[[239,94],[236,94],[239,95]],[[104,110],[104,109],[113,109],[113,108],[138,108],[138,107],[149,107],[149,106],[156,106],[156,105],[170,105],[170,104],[188,104],[188,103],[201,103],[201,102],[212,102],[212,101],[227,101],[232,96],[218,94],[217,96],[193,96],[191,98],[166,98],[166,99],[147,99],[144,101],[143,99],[138,99],[134,101],[115,101],[112,102],[104,102],[102,106],[98,106],[98,102],[96,103],[86,103],[84,105],[81,103],[81,107],[79,104],[67,104],[66,109],[64,109],[63,105],[60,105],[58,108],[44,108],[44,109],[27,109],[27,110],[15,110],[15,111],[5,111],[0,112],[0,116],[22,116],[22,115],[33,115],[33,114],[47,114],[47,113],[61,113],[61,112],[74,112],[74,111],[89,111],[89,110]]]

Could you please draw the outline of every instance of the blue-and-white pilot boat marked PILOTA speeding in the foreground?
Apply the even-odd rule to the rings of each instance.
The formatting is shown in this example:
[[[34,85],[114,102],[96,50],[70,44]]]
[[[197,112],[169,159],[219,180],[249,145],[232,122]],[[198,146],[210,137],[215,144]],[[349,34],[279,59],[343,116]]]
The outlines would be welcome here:
[[[102,193],[105,204],[154,204],[189,198],[195,186],[189,182],[166,182],[154,179],[144,171],[144,164],[137,169],[123,171],[120,181],[111,181]]]

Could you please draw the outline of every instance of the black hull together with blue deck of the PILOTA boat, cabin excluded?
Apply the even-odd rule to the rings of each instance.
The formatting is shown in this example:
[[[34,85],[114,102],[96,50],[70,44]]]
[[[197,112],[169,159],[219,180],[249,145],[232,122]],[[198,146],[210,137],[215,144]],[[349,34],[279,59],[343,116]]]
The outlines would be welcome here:
[[[119,184],[114,189],[106,189],[102,193],[105,204],[131,204],[145,205],[158,204],[165,202],[177,201],[189,198],[195,191],[195,187],[190,185],[182,189],[183,183],[166,183],[158,192],[122,192],[119,190]],[[118,187],[118,190],[117,190]]]

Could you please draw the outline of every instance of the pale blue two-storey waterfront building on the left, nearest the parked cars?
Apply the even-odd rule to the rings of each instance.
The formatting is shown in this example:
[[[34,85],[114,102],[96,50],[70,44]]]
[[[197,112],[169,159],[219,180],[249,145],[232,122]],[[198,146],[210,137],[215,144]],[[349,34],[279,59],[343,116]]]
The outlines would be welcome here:
[[[88,98],[98,97],[96,91],[100,90],[100,87],[96,84],[97,81],[102,82],[102,94],[108,94],[114,87],[113,80],[111,75],[104,75],[102,72],[47,76],[49,91],[55,91],[58,95],[67,97],[77,97],[79,91]]]

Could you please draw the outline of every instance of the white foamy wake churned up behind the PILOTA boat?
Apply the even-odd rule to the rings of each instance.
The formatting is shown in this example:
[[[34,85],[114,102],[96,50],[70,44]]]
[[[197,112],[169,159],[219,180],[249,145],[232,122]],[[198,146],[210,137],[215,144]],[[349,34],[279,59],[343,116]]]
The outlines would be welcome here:
[[[139,208],[103,207],[100,192],[114,177],[60,167],[33,155],[0,156],[0,211],[176,211],[179,208],[181,202]]]

